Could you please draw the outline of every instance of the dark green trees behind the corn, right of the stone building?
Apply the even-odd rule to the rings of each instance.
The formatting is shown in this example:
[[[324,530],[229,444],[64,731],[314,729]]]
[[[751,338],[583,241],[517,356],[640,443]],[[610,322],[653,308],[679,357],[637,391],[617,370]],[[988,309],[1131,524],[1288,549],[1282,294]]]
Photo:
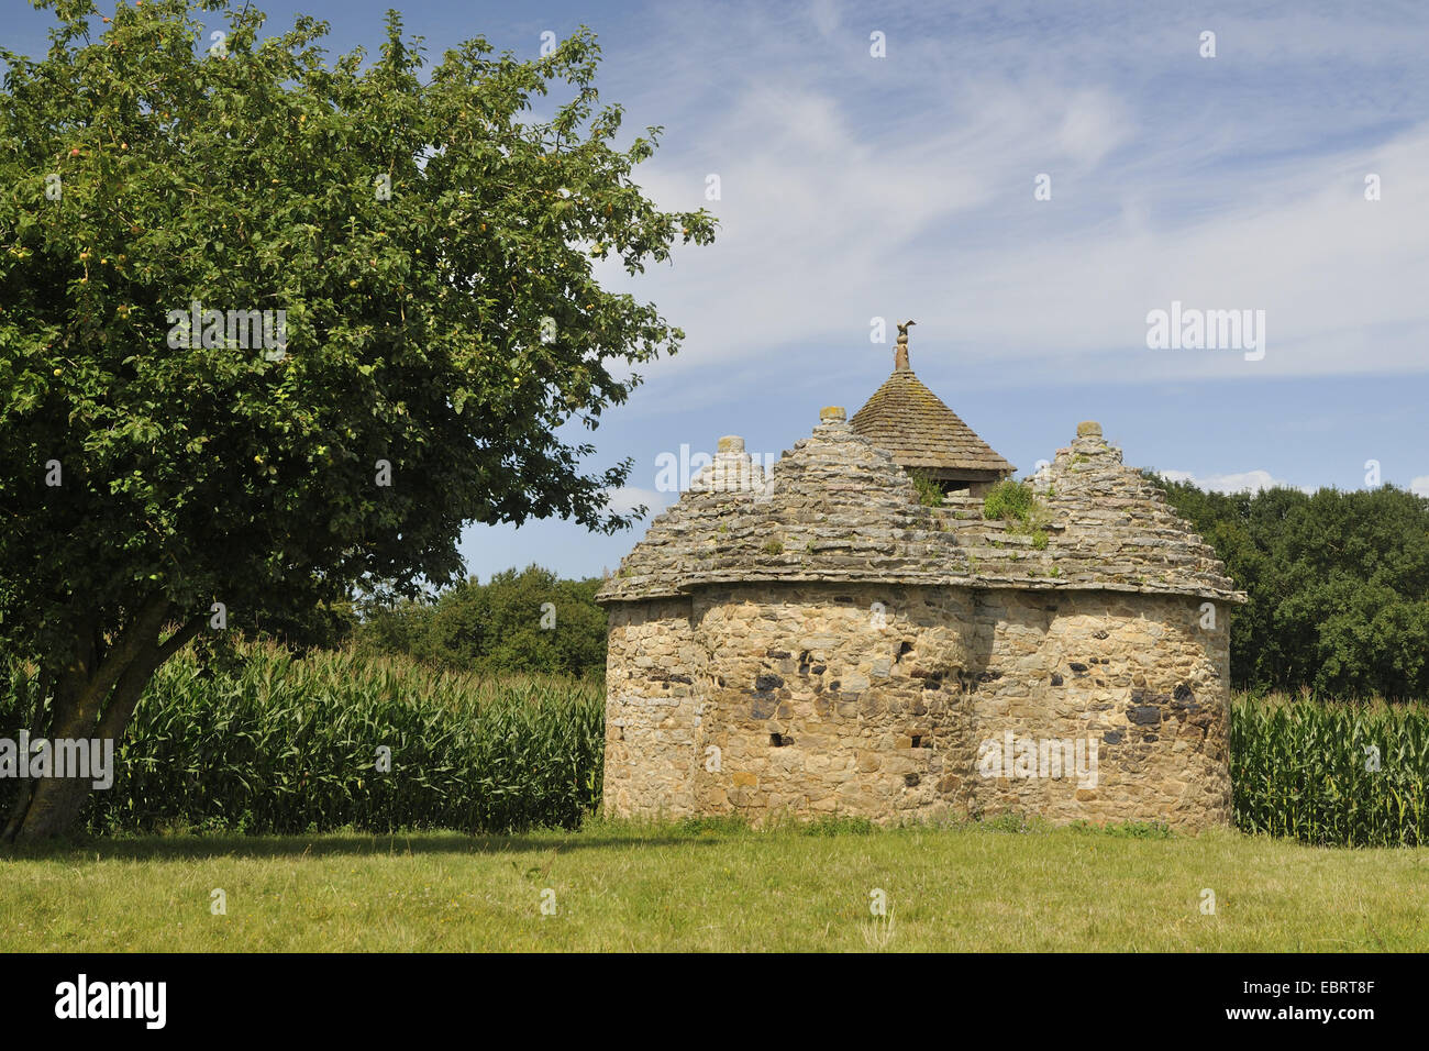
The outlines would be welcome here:
[[[1149,478],[1249,595],[1230,618],[1235,686],[1429,696],[1429,499],[1390,485],[1228,495]]]

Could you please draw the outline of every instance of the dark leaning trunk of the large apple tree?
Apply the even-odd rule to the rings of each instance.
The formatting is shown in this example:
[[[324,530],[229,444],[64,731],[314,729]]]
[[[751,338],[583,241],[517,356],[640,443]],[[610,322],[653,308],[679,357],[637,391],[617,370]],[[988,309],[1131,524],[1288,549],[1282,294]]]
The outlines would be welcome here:
[[[164,601],[147,602],[103,653],[103,659],[100,648],[81,633],[70,668],[54,679],[47,734],[51,749],[60,739],[97,738],[113,739],[119,752],[119,742],[144,686],[204,623],[201,616],[194,618],[160,641],[169,611]],[[20,798],[0,832],[0,841],[31,842],[73,832],[89,802],[91,785],[87,776],[27,779],[21,784]]]

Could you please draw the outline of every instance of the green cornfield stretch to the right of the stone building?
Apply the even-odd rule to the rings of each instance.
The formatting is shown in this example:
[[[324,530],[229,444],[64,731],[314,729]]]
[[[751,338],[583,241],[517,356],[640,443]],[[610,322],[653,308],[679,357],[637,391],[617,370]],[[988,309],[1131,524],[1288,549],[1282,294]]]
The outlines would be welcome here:
[[[1429,709],[1236,696],[1236,825],[1318,845],[1429,844]]]

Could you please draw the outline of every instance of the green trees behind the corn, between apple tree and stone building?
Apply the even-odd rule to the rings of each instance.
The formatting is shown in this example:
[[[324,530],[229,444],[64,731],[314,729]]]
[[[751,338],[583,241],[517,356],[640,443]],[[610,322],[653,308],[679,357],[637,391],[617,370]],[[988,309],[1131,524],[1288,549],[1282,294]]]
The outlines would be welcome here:
[[[553,672],[602,676],[606,613],[600,578],[566,581],[532,565],[474,579],[436,602],[364,608],[344,632],[353,649],[402,653],[467,672]]]

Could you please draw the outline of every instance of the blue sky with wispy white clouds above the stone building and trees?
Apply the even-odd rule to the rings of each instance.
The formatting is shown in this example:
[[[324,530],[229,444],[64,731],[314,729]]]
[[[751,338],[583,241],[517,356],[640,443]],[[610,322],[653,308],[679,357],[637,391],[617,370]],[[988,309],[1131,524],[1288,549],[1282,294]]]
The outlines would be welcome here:
[[[0,4],[6,44],[43,50],[49,14]],[[636,460],[617,502],[673,499],[656,460],[682,443],[779,453],[820,406],[852,415],[906,317],[919,378],[1019,473],[1096,419],[1127,463],[1205,485],[1360,488],[1378,460],[1429,495],[1429,6],[256,6],[272,30],[329,20],[334,53],[374,51],[392,6],[433,54],[597,33],[603,100],[632,134],[666,129],[637,182],[722,223],[673,266],[606,275],[686,330],[594,432],[592,468]],[[1265,356],[1149,349],[1172,302],[1263,310]],[[640,532],[472,528],[462,549],[482,578],[594,575]]]

